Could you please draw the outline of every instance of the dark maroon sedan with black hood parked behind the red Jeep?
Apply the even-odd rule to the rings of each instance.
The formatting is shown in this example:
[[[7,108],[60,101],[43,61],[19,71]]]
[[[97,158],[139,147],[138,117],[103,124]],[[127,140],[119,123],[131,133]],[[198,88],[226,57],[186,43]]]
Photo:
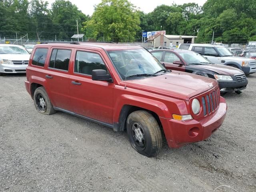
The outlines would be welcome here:
[[[236,92],[240,94],[246,88],[248,80],[241,70],[213,64],[200,54],[189,50],[153,50],[151,53],[166,69],[198,74],[216,79],[220,92]]]

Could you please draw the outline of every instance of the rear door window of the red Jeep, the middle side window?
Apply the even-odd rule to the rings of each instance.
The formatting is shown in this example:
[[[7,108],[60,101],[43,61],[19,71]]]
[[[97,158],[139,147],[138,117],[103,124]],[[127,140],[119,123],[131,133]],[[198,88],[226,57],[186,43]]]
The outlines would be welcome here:
[[[68,71],[71,50],[53,49],[49,68]]]

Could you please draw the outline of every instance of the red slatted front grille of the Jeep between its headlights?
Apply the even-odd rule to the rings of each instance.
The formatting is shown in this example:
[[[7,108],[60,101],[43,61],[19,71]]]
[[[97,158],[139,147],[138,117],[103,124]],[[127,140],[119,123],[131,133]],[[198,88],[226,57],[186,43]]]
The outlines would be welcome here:
[[[220,105],[220,90],[219,88],[212,90],[210,93],[202,96],[202,106],[204,116],[214,112]]]

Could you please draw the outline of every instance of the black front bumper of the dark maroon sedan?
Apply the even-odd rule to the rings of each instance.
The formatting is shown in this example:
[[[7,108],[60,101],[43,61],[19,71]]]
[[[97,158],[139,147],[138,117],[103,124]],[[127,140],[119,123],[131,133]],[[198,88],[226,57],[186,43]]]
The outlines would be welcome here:
[[[233,91],[239,91],[239,90],[246,89],[248,80],[246,79],[244,82],[238,82],[237,80],[236,80],[236,82],[234,82],[234,81],[232,81],[232,82],[218,81],[218,83],[219,83],[219,87],[220,87],[220,92],[224,93],[224,92],[233,92]],[[226,88],[226,90],[221,90],[222,88]]]

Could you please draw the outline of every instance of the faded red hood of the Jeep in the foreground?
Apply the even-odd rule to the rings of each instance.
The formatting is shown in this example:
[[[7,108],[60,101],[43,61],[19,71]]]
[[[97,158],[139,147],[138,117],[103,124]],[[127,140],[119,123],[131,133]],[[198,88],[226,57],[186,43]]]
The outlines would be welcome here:
[[[125,81],[121,81],[122,86]],[[126,87],[172,98],[189,100],[216,86],[217,81],[200,75],[172,71],[168,74],[138,80],[126,80]]]

